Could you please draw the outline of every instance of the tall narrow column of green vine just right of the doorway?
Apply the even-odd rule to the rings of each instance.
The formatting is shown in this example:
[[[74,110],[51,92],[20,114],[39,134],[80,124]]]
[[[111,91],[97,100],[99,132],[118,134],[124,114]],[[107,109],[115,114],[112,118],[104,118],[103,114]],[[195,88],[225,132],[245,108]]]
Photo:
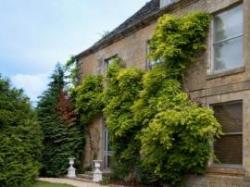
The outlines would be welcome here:
[[[118,58],[107,72],[104,113],[114,152],[112,169],[116,177],[125,180],[137,178],[139,142],[135,136],[141,127],[135,123],[130,107],[142,89],[142,74],[137,69],[123,68]]]

